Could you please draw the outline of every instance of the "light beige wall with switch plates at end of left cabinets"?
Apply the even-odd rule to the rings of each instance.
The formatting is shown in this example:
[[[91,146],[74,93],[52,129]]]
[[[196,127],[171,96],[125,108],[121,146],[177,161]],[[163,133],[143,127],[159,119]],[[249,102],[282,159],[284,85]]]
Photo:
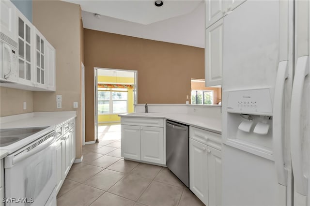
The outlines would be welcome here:
[[[33,25],[56,49],[56,92],[33,92],[33,111],[76,111],[76,156],[81,157],[80,6],[60,0],[34,0]],[[56,94],[62,109],[56,109]],[[79,108],[73,108],[78,102]]]

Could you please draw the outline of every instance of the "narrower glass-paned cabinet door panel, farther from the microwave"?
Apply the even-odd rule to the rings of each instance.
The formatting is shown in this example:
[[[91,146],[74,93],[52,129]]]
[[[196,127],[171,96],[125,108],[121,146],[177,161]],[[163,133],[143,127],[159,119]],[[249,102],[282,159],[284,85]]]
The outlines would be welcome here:
[[[44,68],[44,46],[45,40],[36,33],[36,82],[40,84],[45,84],[45,68]]]

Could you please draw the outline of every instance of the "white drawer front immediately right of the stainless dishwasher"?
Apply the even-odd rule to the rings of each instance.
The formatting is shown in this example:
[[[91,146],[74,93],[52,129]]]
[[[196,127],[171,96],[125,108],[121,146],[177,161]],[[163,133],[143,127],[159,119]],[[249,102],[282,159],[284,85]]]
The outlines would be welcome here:
[[[202,144],[222,150],[221,135],[202,130],[196,127],[189,127],[189,138],[194,139]]]

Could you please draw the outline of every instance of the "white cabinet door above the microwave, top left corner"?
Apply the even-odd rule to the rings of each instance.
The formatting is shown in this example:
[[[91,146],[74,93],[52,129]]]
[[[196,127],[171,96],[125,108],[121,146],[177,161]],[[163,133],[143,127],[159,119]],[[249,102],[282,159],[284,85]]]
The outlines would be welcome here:
[[[10,0],[0,1],[0,32],[17,42],[15,12],[16,7]]]

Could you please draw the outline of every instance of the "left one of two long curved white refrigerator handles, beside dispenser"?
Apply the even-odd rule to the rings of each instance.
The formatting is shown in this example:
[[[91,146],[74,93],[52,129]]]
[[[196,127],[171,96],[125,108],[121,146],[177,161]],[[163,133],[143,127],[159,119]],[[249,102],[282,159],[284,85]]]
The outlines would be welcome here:
[[[280,61],[277,72],[275,97],[273,104],[273,151],[277,169],[277,177],[279,184],[287,186],[287,170],[284,167],[283,157],[283,96],[285,81],[288,78],[288,61]]]

